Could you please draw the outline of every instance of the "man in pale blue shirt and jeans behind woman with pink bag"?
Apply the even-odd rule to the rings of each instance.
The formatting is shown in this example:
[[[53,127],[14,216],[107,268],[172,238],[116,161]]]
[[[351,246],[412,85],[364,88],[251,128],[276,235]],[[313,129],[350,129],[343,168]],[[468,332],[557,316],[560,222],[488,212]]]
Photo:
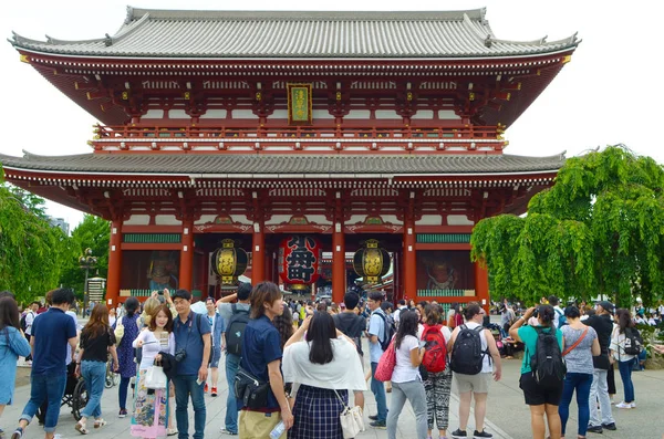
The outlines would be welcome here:
[[[369,321],[369,356],[371,359],[371,391],[374,394],[376,398],[376,406],[378,409],[378,414],[375,416],[370,416],[369,418],[372,420],[370,426],[374,428],[385,429],[386,420],[387,420],[387,396],[385,395],[385,387],[382,381],[376,379],[376,368],[378,367],[378,362],[381,360],[381,356],[383,355],[383,348],[381,347],[381,341],[385,338],[385,313],[381,310],[381,304],[383,303],[383,295],[377,291],[372,292],[369,295],[369,301],[366,302],[369,309],[371,310],[371,318]],[[378,315],[383,314],[383,316]]]

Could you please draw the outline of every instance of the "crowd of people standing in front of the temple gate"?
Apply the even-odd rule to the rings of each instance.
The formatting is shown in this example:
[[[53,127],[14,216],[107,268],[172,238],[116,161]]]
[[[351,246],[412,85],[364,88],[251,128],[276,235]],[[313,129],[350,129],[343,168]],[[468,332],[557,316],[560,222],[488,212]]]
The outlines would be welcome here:
[[[23,437],[42,406],[45,437],[53,437],[70,368],[83,377],[89,395],[75,430],[87,435],[106,426],[102,401],[107,362],[121,376],[117,416],[131,416],[134,437],[188,438],[190,403],[193,437],[203,438],[204,396],[218,396],[219,367],[230,389],[220,426],[226,435],[343,438],[342,418],[364,418],[371,380],[376,412],[369,415],[370,426],[386,429],[390,439],[396,438],[406,401],[418,439],[432,438],[434,430],[439,438],[492,437],[485,429],[485,415],[490,381],[502,375],[502,335],[496,336],[485,309],[476,303],[454,304],[446,313],[436,302],[400,301],[394,306],[380,292],[365,301],[349,292],[339,305],[284,302],[271,282],[242,283],[218,301],[208,297],[201,313],[193,311],[186,290],[155,292],[143,305],[128,297],[122,310],[98,303],[79,331],[70,290],[49,292],[45,302],[45,312],[34,302],[21,317],[12,295],[0,294],[0,373],[9,378],[0,383],[0,415],[13,399],[18,357],[32,355],[30,400],[12,439]],[[578,438],[615,430],[615,363],[624,400],[613,407],[636,407],[631,374],[641,341],[635,318],[606,301],[592,312],[558,304],[557,297],[548,297],[520,317],[507,303],[501,310],[499,333],[525,349],[520,388],[533,437],[544,438],[547,429],[552,439],[564,437],[574,393]],[[654,348],[664,353],[664,346]],[[459,425],[448,432],[453,387],[459,397]],[[390,407],[386,393],[392,394]]]

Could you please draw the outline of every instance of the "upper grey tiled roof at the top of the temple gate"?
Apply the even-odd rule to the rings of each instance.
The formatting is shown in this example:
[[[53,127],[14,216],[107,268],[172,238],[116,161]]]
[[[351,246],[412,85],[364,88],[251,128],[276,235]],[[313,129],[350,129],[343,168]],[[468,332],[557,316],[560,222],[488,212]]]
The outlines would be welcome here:
[[[18,49],[87,56],[317,59],[494,58],[575,48],[497,39],[485,10],[430,12],[166,11],[128,8],[118,32],[86,41],[35,41]]]

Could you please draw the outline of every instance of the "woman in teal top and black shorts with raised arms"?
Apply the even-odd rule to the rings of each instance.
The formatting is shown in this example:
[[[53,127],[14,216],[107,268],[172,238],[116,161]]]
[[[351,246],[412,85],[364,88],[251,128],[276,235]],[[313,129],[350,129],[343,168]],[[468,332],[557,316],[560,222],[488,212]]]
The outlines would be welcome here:
[[[525,322],[535,315],[537,310],[537,325],[523,326]],[[530,362],[532,356],[537,354],[537,339],[540,332],[556,334],[558,347],[563,352],[562,332],[553,325],[556,311],[551,305],[532,306],[526,310],[523,316],[509,328],[509,335],[516,342],[522,342],[526,345],[523,362],[521,363],[521,378],[519,387],[523,390],[526,405],[530,407],[530,426],[532,427],[532,437],[535,439],[543,439],[547,433],[544,426],[544,415],[549,425],[549,435],[551,439],[560,439],[561,424],[558,406],[562,396],[562,383],[557,388],[542,388],[532,376]]]

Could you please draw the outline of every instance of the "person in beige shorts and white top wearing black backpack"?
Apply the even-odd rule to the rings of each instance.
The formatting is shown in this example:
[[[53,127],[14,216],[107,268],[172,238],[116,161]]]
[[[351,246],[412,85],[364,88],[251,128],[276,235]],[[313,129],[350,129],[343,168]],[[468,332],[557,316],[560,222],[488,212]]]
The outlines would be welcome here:
[[[455,439],[467,438],[466,428],[470,415],[470,400],[475,398],[475,438],[492,438],[484,430],[487,396],[491,375],[499,380],[502,374],[500,353],[496,339],[483,321],[486,312],[469,303],[464,310],[466,323],[455,327],[447,343],[452,354],[450,367],[459,393],[459,428],[452,433]]]

